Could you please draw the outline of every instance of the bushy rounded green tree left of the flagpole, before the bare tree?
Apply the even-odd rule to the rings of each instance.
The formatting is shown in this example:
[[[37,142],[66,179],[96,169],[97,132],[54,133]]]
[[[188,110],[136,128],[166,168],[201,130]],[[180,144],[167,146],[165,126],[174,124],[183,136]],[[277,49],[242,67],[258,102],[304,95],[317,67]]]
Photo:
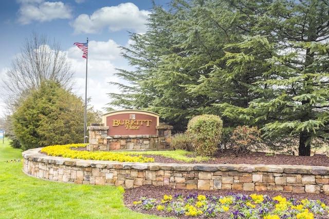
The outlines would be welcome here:
[[[90,112],[92,122],[96,118]],[[59,83],[42,82],[13,113],[13,131],[23,149],[83,142],[84,103]]]

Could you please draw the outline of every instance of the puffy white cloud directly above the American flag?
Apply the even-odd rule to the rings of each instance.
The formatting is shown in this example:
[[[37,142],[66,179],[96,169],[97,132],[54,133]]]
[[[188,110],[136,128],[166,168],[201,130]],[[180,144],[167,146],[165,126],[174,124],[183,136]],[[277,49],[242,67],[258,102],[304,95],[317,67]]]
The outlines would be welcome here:
[[[139,10],[133,3],[124,3],[118,6],[103,7],[92,15],[81,14],[71,26],[78,33],[99,33],[107,27],[110,31],[133,29],[136,32],[145,32],[145,23],[151,12]]]

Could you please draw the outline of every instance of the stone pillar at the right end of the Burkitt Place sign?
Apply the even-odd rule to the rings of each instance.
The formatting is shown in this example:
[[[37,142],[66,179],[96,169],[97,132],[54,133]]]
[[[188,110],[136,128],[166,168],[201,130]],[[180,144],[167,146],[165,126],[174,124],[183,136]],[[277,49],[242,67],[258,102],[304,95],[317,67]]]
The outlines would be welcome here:
[[[155,127],[158,133],[158,143],[157,150],[168,150],[170,149],[171,143],[171,130],[174,128],[173,126],[169,126],[168,123],[159,123],[158,126]]]

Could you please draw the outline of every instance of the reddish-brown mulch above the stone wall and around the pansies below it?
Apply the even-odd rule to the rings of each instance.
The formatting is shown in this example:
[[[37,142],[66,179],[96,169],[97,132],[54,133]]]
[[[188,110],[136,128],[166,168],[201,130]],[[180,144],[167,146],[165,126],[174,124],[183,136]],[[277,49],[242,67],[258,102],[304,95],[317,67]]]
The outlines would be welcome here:
[[[155,158],[156,163],[184,163],[176,161],[172,158],[152,155],[147,157]],[[196,162],[194,162],[196,163]],[[304,166],[329,166],[329,157],[325,155],[316,155],[316,156],[294,156],[294,155],[285,155],[285,154],[276,154],[269,155],[268,153],[263,152],[251,152],[249,154],[241,154],[235,156],[230,151],[221,151],[216,153],[212,159],[207,162],[201,162],[204,164],[265,164],[265,165],[304,165]],[[188,196],[189,194],[203,194],[203,195],[215,195],[215,196],[226,196],[229,193],[234,194],[267,194],[271,197],[281,195],[284,197],[294,197],[297,200],[303,200],[308,198],[308,200],[323,200],[326,204],[329,204],[329,195],[326,194],[310,194],[310,193],[287,193],[281,191],[259,191],[259,192],[250,192],[250,191],[236,191],[236,190],[182,190],[182,189],[173,189],[168,186],[156,187],[152,185],[145,185],[133,189],[125,189],[124,204],[127,208],[132,209],[133,211],[140,212],[143,214],[153,214],[157,216],[171,216],[176,217],[173,213],[166,211],[159,211],[154,209],[146,210],[143,209],[140,205],[133,205],[134,201],[139,201],[141,197],[155,198],[160,201],[163,198],[163,195],[175,195],[182,194]],[[218,217],[212,218],[228,218],[229,213],[220,214]],[[176,218],[192,218],[186,215],[180,215]],[[209,218],[205,215],[200,215],[193,218]],[[326,215],[319,216],[316,215],[315,218],[329,218]]]

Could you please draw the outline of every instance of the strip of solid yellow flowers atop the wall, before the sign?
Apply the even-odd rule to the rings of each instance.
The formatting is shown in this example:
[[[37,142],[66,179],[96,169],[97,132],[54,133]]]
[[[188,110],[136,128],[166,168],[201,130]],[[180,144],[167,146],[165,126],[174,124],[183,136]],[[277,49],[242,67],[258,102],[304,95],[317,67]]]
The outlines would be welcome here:
[[[119,162],[154,162],[154,158],[139,156],[130,156],[123,152],[91,152],[71,150],[71,148],[85,147],[85,144],[53,145],[41,149],[41,152],[49,156],[62,156],[65,158],[95,160],[95,161],[119,161]]]

